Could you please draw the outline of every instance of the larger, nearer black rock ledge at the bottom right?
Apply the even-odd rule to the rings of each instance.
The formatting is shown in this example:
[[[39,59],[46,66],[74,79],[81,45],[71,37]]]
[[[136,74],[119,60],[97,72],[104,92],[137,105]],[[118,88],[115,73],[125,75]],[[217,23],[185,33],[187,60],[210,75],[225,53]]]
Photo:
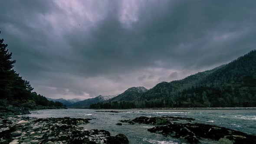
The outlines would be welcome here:
[[[187,140],[189,143],[199,143],[200,138],[215,141],[231,141],[233,144],[255,144],[256,136],[240,131],[218,127],[210,124],[198,123],[171,123],[165,126],[156,126],[148,129],[150,132],[158,132],[166,136],[177,137]]]

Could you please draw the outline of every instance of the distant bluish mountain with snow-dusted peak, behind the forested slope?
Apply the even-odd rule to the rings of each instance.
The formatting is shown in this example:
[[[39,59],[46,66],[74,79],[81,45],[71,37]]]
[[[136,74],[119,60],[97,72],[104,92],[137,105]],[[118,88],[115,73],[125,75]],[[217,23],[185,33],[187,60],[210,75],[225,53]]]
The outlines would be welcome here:
[[[89,99],[85,99],[83,101],[78,101],[73,103],[72,105],[69,105],[69,108],[89,108],[90,105],[92,104],[96,104],[98,102],[102,102],[102,101],[106,101],[110,98],[113,98],[117,95],[107,95],[107,96],[103,96],[103,95],[99,95],[95,98],[89,98]]]

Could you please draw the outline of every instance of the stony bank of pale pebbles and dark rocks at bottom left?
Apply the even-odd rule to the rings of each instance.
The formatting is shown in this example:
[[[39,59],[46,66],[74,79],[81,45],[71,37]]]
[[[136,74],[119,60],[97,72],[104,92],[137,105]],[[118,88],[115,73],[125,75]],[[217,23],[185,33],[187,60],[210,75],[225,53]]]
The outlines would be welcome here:
[[[83,118],[0,117],[0,144],[128,144],[124,134],[87,130]]]

